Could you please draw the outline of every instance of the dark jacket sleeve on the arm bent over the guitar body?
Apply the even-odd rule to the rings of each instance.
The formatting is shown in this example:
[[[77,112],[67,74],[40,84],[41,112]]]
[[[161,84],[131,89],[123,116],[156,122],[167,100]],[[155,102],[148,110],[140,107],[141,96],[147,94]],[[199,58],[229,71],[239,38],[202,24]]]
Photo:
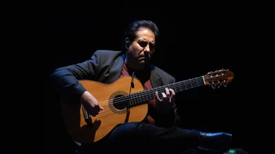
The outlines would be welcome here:
[[[61,92],[80,97],[86,89],[78,82],[81,79],[94,79],[100,64],[100,52],[96,51],[89,60],[78,64],[64,66],[54,70],[51,82]]]

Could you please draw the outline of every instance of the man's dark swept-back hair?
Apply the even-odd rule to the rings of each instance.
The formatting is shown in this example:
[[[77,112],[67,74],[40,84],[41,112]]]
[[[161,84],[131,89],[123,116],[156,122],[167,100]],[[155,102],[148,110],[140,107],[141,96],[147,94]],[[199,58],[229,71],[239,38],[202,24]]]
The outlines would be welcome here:
[[[134,21],[131,23],[126,29],[124,38],[122,40],[122,49],[125,51],[125,39],[129,38],[129,40],[132,42],[135,37],[136,37],[136,32],[140,28],[147,28],[150,29],[154,34],[155,34],[155,40],[159,37],[159,28],[153,21],[148,21],[148,20],[141,20],[141,21]]]

